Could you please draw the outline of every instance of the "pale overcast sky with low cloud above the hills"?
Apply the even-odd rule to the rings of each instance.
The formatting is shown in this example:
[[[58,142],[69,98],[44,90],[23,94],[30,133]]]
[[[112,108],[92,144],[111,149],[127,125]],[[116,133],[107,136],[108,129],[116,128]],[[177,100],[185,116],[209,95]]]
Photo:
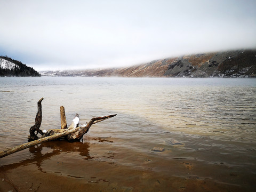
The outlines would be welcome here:
[[[255,0],[0,0],[0,55],[38,71],[256,49]]]

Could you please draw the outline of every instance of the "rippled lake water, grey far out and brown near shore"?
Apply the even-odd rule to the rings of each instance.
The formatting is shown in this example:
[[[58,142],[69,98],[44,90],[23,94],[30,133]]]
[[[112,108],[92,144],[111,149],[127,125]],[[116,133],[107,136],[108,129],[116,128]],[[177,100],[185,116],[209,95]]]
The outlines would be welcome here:
[[[0,191],[254,191],[255,78],[0,78],[0,150],[41,129],[117,114],[83,142],[0,159]],[[2,187],[2,188],[1,188]]]

